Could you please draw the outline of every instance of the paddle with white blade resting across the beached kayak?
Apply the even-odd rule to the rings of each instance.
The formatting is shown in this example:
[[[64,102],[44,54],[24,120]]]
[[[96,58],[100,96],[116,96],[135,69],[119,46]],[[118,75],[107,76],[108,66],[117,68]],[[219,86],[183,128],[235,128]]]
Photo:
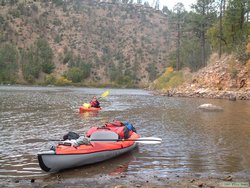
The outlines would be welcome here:
[[[35,143],[35,142],[51,142],[51,141],[64,141],[60,139],[41,139],[41,138],[31,138],[31,139],[26,139],[23,141],[23,143]],[[90,142],[118,142],[118,141],[134,141],[137,143],[142,143],[142,144],[160,144],[162,139],[161,138],[156,138],[156,137],[141,137],[141,138],[136,138],[136,139],[89,139]]]

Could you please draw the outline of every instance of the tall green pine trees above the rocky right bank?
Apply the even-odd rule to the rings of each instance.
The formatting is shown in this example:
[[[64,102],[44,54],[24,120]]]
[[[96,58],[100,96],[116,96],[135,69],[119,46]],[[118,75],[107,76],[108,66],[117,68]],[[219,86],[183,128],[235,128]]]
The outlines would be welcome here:
[[[245,53],[250,34],[249,0],[197,0],[191,11],[182,3],[162,11],[169,17],[176,43],[170,61],[177,70],[186,66],[196,71],[206,66],[212,52],[220,57],[234,53],[243,63],[249,58]]]

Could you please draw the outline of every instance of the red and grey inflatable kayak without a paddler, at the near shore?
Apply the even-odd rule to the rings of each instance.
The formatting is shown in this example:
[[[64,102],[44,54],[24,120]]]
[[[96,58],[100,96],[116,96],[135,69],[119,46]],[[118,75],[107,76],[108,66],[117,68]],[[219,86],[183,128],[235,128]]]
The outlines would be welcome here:
[[[115,139],[111,139],[114,140],[112,142],[90,141],[90,144],[82,144],[76,147],[58,144],[55,150],[38,153],[40,167],[46,172],[55,172],[93,164],[129,152],[138,144],[135,140],[139,138],[139,135],[135,132],[129,137],[131,141],[120,140],[118,139],[118,135],[111,131],[101,131],[98,134],[97,138],[102,137],[104,140],[108,140],[110,136],[113,138],[113,134],[116,137]]]

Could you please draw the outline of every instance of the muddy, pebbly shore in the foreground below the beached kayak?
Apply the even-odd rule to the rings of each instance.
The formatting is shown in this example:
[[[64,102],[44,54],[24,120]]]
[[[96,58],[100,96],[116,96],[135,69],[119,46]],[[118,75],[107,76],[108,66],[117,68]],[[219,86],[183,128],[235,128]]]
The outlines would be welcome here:
[[[64,178],[60,174],[53,174],[46,178],[13,178],[1,179],[1,187],[91,187],[91,188],[163,188],[163,187],[250,187],[250,179],[225,177],[199,177],[198,175],[174,178],[159,177],[155,174],[153,177],[143,174],[118,176],[98,175],[84,178]]]

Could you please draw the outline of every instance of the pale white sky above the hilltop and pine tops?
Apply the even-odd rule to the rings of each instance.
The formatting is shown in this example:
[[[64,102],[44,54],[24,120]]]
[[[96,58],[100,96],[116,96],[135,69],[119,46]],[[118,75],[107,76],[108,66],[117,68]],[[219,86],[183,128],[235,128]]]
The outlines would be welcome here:
[[[147,0],[147,1],[149,2],[150,5],[154,2],[154,0]],[[159,1],[160,1],[160,9],[162,9],[163,6],[167,6],[168,9],[170,10],[172,10],[174,5],[176,5],[179,2],[185,6],[186,10],[190,10],[190,6],[197,2],[197,0],[159,0]]]

